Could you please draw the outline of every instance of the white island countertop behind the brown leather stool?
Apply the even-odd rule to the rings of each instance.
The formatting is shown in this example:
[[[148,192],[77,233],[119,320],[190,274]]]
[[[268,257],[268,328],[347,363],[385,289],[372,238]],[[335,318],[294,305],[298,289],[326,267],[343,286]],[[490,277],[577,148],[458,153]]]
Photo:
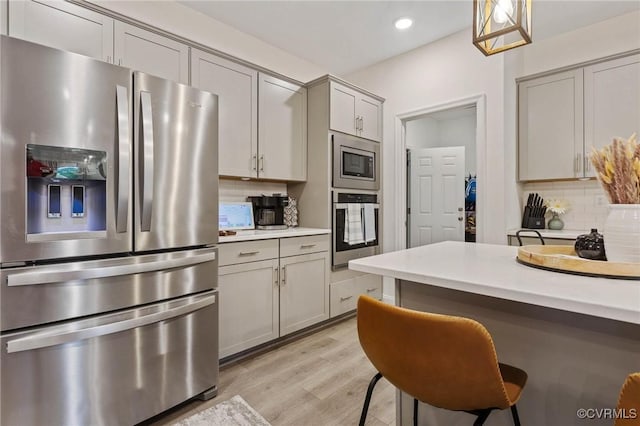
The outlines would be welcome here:
[[[349,269],[640,324],[640,281],[583,277],[516,262],[517,247],[447,241],[349,262]]]

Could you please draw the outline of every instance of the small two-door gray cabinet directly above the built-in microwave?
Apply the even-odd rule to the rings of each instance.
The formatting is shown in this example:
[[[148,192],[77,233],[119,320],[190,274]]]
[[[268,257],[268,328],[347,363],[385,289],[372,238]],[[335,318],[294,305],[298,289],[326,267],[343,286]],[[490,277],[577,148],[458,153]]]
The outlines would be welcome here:
[[[380,142],[382,140],[382,102],[364,93],[330,82],[332,130]]]

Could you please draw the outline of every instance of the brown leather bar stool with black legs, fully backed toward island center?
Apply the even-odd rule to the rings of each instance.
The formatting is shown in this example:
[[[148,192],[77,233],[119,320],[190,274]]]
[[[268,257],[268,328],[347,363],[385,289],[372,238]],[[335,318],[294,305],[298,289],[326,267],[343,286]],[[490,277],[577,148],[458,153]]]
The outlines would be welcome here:
[[[482,425],[493,410],[510,408],[514,424],[520,425],[516,402],[527,373],[498,363],[482,324],[404,309],[364,295],[358,299],[357,322],[360,345],[378,370],[367,389],[361,426],[382,377],[414,398],[416,426],[418,401],[473,414],[474,425]]]

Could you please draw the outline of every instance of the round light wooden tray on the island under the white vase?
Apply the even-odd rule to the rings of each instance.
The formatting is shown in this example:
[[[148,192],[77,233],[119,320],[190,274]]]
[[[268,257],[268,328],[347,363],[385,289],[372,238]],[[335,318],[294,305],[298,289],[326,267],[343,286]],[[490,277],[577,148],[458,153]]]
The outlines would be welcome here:
[[[607,262],[578,257],[571,246],[522,246],[516,259],[523,265],[567,274],[640,280],[640,263]]]

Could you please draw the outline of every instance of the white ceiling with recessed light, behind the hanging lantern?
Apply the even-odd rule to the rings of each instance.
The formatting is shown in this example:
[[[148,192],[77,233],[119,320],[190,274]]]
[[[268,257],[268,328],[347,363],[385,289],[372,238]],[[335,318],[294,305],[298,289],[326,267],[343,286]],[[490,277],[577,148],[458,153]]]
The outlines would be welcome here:
[[[338,75],[469,28],[473,13],[472,0],[179,2]],[[533,0],[534,43],[633,10],[640,1]],[[402,16],[414,24],[401,32]]]

